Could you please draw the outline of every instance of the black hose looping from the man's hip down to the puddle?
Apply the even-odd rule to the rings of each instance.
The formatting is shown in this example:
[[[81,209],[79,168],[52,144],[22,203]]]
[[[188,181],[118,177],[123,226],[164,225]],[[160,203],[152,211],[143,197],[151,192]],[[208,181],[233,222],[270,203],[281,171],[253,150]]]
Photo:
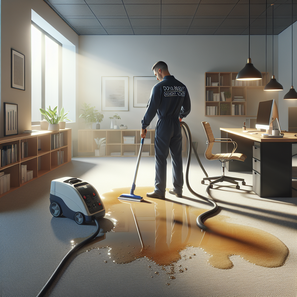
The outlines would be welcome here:
[[[191,131],[190,131],[190,129],[189,129],[189,126],[188,126],[185,122],[181,122],[181,125],[182,125],[182,128],[184,129],[184,132],[185,132],[185,134],[186,134],[186,137],[187,137],[187,139],[188,139],[188,141],[189,141],[189,154],[188,154],[187,168],[186,168],[186,184],[187,184],[187,187],[188,187],[189,191],[190,191],[193,195],[197,196],[197,197],[200,198],[200,199],[205,200],[206,202],[210,203],[211,206],[212,206],[212,208],[211,208],[210,210],[208,210],[208,211],[206,211],[206,212],[203,212],[203,214],[200,214],[200,215],[197,217],[197,219],[196,219],[196,225],[197,225],[199,228],[203,229],[203,230],[207,230],[207,227],[202,223],[202,220],[203,220],[205,217],[207,217],[209,214],[212,214],[213,212],[215,212],[215,211],[218,209],[218,206],[217,206],[217,203],[214,202],[214,200],[209,199],[209,198],[211,198],[211,195],[209,194],[210,185],[208,185],[208,187],[206,188],[206,194],[207,194],[207,196],[209,197],[209,198],[206,198],[206,197],[204,197],[204,196],[202,196],[202,195],[196,193],[195,191],[193,191],[193,189],[191,188],[191,186],[190,186],[190,184],[189,184],[189,168],[190,168],[191,155],[192,155],[192,146],[194,147],[194,145],[193,145],[193,143],[192,143],[192,135],[191,135]],[[185,128],[187,129],[187,131],[186,131]],[[191,144],[192,144],[192,145],[191,145]],[[194,150],[194,152],[195,152],[195,150]],[[207,175],[205,169],[203,168],[203,166],[202,166],[202,164],[201,164],[201,162],[200,162],[200,159],[199,159],[199,157],[198,157],[197,151],[196,151],[196,154],[195,154],[195,155],[196,155],[196,158],[197,158],[197,160],[198,160],[198,162],[199,162],[199,165],[200,165],[201,169],[203,170],[203,172],[204,172],[204,174],[206,175],[206,177],[208,177],[208,175]]]

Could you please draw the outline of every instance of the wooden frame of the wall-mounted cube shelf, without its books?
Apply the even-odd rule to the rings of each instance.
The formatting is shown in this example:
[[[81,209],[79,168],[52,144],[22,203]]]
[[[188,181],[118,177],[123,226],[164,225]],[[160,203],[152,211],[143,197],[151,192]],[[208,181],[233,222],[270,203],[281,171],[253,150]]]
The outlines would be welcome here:
[[[232,105],[243,105],[243,115],[240,116],[251,116],[248,114],[249,102],[251,98],[248,96],[247,90],[264,90],[266,86],[266,78],[269,78],[269,73],[262,72],[263,79],[261,80],[236,80],[236,75],[238,72],[205,72],[205,81],[204,81],[204,114],[205,116],[239,116],[232,115]],[[223,80],[220,79],[223,78]],[[211,78],[211,83],[219,83],[219,86],[207,86],[207,78]],[[238,86],[232,85],[232,80],[238,82]],[[222,83],[221,83],[222,82]],[[222,85],[220,85],[222,84]],[[257,85],[258,84],[258,85]],[[226,101],[206,101],[207,91],[213,91],[215,94],[219,94],[220,100],[222,100],[221,92],[230,92],[231,97],[225,98]],[[244,101],[234,101],[234,97],[242,96]],[[265,100],[265,99],[264,99]],[[223,104],[227,106],[223,106]],[[207,106],[217,106],[217,115],[208,115]],[[228,110],[221,110],[224,107]]]

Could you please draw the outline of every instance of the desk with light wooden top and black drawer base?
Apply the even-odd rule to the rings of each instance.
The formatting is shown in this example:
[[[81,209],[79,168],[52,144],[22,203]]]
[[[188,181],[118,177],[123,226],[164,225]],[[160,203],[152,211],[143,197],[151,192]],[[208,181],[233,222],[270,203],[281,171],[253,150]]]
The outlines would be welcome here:
[[[220,128],[221,138],[231,138],[237,143],[236,152],[245,154],[247,159],[244,162],[233,160],[227,162],[228,171],[253,171],[253,146],[260,148],[260,177],[259,190],[253,190],[260,197],[292,197],[292,143],[297,143],[297,137],[293,132],[284,132],[283,138],[263,138],[262,133],[255,129],[258,134],[242,132],[241,128]],[[221,152],[232,152],[233,144],[221,143]],[[254,156],[255,157],[255,156]],[[254,168],[255,169],[255,168]],[[259,171],[259,170],[258,170]],[[255,177],[253,176],[253,180]]]

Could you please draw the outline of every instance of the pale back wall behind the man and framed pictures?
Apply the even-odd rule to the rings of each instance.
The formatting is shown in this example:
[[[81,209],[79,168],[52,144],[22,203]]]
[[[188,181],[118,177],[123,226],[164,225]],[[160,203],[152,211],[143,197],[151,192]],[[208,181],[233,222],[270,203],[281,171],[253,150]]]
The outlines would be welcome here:
[[[277,78],[277,36],[274,37],[274,43],[274,74]],[[271,36],[268,36],[269,73],[272,73],[271,47]],[[198,141],[198,151],[203,153],[206,136],[201,121],[208,121],[211,124],[215,137],[220,137],[220,127],[242,127],[245,121],[244,117],[204,116],[204,73],[237,72],[245,66],[247,58],[248,37],[241,35],[80,35],[79,103],[91,103],[101,112],[101,76],[129,76],[129,111],[116,113],[121,116],[119,124],[127,124],[128,129],[140,129],[146,108],[133,107],[133,76],[152,76],[152,65],[159,60],[165,61],[170,74],[184,83],[189,90],[192,111],[185,121],[191,129],[193,141]],[[251,58],[255,67],[265,72],[265,36],[251,36]],[[263,93],[266,93],[263,94],[264,100],[277,96]],[[113,116],[113,112],[103,113],[101,129],[109,129],[108,117]],[[80,129],[84,129],[81,119]]]

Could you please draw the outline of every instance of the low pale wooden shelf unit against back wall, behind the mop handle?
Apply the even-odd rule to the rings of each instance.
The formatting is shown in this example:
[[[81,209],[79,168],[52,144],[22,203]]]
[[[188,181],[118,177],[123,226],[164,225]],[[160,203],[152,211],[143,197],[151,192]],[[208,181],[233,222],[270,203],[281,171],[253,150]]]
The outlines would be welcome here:
[[[95,139],[105,138],[98,149]],[[143,157],[154,157],[155,130],[148,130],[143,145]],[[78,153],[80,156],[131,157],[137,156],[140,148],[140,130],[78,130]],[[105,148],[105,150],[104,150]],[[100,155],[95,154],[100,151]]]

